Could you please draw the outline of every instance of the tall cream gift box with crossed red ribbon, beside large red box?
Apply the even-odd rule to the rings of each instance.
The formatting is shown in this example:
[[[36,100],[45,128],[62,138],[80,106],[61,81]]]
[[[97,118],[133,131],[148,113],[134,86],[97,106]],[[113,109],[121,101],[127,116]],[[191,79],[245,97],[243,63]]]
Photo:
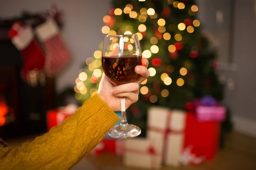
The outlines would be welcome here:
[[[184,111],[152,107],[148,110],[148,139],[157,144],[157,152],[165,165],[177,167],[183,150]]]

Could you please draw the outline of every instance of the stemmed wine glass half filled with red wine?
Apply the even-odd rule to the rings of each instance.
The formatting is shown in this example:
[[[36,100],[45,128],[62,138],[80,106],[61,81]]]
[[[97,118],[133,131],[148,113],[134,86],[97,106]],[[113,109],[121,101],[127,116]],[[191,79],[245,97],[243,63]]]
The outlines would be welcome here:
[[[102,68],[113,85],[134,82],[138,77],[134,71],[137,65],[142,65],[140,42],[137,34],[105,36],[102,48]],[[136,137],[141,133],[140,127],[127,123],[125,97],[121,97],[120,100],[120,125],[111,127],[108,134],[117,139]]]

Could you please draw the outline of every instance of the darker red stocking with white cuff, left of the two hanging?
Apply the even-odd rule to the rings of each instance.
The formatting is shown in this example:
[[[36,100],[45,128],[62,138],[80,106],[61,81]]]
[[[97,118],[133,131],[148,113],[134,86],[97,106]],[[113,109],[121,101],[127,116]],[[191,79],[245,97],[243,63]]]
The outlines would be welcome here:
[[[32,72],[44,70],[44,53],[35,39],[30,26],[22,26],[21,23],[15,23],[8,33],[12,43],[21,51],[23,57],[23,68],[21,77],[29,81]]]

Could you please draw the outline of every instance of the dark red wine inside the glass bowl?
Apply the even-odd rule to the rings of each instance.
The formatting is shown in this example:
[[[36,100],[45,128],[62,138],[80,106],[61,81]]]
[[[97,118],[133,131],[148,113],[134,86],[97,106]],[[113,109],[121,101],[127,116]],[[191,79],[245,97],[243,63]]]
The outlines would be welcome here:
[[[114,85],[122,85],[137,79],[134,69],[142,65],[141,60],[141,56],[102,57],[102,68]]]

